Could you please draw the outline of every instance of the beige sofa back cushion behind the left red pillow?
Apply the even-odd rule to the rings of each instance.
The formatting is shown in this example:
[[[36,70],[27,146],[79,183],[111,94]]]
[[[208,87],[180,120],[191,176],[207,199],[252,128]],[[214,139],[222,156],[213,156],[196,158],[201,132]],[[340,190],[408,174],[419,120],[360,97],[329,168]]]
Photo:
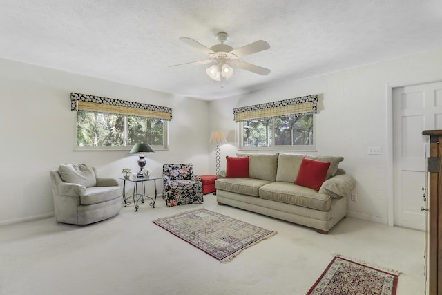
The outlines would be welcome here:
[[[249,156],[249,178],[275,181],[278,169],[278,153],[239,154],[238,157]]]

